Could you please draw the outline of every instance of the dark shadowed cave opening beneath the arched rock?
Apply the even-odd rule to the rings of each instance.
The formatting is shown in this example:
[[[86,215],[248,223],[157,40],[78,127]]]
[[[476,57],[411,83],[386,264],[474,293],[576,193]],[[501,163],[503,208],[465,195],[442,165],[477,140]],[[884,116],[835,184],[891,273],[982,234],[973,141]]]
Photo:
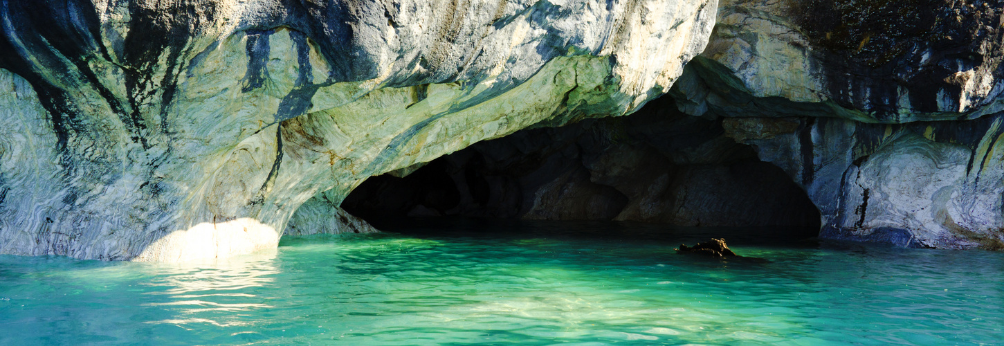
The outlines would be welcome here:
[[[684,114],[667,96],[631,115],[524,129],[371,177],[341,208],[384,230],[438,218],[615,221],[806,239],[820,222],[805,192],[727,136],[721,118]]]

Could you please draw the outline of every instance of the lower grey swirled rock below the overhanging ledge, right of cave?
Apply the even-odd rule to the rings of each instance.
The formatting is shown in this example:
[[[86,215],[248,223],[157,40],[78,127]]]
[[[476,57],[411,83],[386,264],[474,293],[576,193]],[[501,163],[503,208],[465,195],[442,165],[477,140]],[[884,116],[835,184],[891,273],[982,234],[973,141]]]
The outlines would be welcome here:
[[[821,237],[1002,250],[1002,122],[729,118],[725,127],[805,187]]]

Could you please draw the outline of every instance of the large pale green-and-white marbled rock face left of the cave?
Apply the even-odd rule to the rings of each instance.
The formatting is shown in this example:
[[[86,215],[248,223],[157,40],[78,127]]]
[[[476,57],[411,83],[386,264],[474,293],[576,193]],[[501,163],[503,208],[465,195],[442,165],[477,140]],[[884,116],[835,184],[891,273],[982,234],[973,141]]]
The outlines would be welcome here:
[[[0,253],[274,248],[367,177],[641,107],[704,49],[716,6],[4,2]]]

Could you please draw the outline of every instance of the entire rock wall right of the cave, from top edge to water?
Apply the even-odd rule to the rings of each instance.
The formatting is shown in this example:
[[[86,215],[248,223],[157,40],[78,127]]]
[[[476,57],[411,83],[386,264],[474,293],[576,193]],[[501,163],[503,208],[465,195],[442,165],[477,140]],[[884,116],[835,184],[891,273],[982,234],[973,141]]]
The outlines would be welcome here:
[[[1001,249],[1000,1],[723,1],[671,95],[729,117],[820,237]]]

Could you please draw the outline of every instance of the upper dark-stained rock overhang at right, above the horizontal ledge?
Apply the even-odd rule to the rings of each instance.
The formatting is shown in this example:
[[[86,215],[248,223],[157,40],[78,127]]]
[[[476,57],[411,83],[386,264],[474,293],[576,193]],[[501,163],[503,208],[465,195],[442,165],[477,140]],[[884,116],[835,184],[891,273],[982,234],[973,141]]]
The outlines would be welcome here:
[[[722,1],[689,111],[864,122],[1004,110],[1004,2]]]

